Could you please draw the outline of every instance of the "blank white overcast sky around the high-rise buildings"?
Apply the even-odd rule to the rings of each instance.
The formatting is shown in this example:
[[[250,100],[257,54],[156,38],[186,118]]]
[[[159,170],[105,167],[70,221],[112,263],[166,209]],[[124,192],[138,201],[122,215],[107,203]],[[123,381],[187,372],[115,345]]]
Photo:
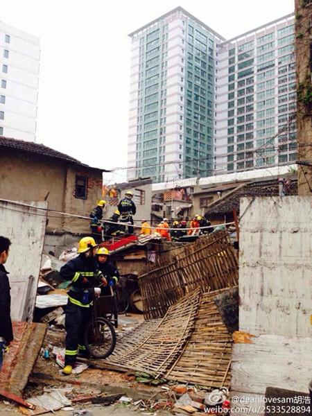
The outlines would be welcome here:
[[[128,33],[177,6],[230,38],[293,12],[294,0],[0,0],[0,20],[41,40],[37,142],[125,166]]]

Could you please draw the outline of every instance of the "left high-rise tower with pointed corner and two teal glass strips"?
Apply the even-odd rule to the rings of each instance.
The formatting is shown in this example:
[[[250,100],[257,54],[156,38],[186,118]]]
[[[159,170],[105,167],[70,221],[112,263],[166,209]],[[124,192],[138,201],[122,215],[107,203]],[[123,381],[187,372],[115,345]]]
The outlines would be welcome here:
[[[128,179],[212,173],[216,44],[223,37],[180,7],[130,37]]]

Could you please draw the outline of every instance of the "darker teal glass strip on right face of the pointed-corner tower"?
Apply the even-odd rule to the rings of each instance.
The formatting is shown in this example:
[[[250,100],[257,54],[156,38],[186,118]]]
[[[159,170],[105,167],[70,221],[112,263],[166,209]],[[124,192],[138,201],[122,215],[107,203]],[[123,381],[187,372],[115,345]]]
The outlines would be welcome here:
[[[184,177],[212,173],[215,44],[196,22],[187,22],[184,111]]]

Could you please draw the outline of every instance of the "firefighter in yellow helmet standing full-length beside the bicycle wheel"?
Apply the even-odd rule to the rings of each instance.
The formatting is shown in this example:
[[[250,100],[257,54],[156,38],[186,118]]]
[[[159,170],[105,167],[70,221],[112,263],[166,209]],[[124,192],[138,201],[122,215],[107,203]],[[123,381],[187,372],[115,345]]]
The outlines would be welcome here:
[[[84,237],[79,241],[77,252],[79,256],[68,261],[60,269],[64,280],[71,280],[66,306],[65,329],[66,351],[64,374],[71,374],[76,356],[86,354],[83,335],[85,326],[91,318],[93,292],[96,282],[101,281],[105,286],[107,281],[103,277],[96,263],[96,242],[92,237]]]

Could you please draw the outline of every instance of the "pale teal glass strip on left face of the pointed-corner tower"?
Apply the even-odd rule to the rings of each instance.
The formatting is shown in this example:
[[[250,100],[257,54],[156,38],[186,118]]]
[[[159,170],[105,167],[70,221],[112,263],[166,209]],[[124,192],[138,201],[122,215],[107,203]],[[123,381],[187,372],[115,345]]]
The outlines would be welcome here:
[[[162,175],[166,142],[166,55],[168,24],[146,31],[139,40],[136,177]]]

